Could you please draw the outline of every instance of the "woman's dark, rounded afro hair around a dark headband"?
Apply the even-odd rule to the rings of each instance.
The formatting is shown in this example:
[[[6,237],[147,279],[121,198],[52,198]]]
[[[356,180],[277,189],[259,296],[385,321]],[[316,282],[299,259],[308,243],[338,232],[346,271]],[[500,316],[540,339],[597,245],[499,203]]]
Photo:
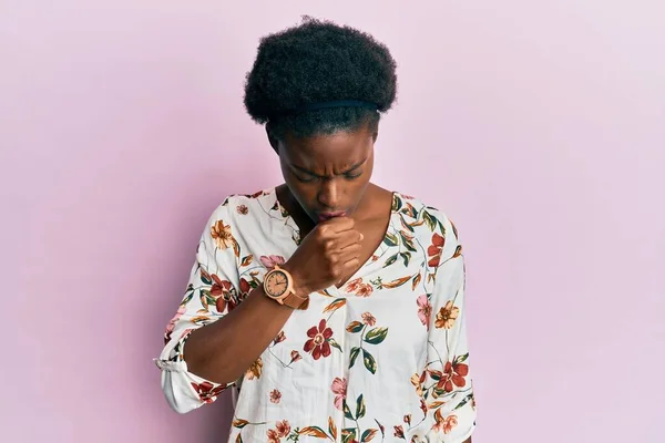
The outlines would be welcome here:
[[[247,73],[245,107],[277,136],[352,131],[378,124],[395,102],[396,63],[388,48],[349,27],[305,18],[297,27],[260,40]],[[371,102],[366,107],[332,107],[288,114],[304,105],[337,100]],[[286,114],[286,115],[285,115]]]

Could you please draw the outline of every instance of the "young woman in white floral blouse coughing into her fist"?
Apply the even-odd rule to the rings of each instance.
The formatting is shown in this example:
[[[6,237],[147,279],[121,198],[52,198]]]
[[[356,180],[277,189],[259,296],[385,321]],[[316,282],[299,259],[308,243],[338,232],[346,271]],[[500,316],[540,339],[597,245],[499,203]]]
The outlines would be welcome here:
[[[329,22],[260,42],[245,105],[285,183],[214,212],[156,360],[181,413],[242,384],[231,442],[470,442],[457,230],[370,182],[395,68]]]

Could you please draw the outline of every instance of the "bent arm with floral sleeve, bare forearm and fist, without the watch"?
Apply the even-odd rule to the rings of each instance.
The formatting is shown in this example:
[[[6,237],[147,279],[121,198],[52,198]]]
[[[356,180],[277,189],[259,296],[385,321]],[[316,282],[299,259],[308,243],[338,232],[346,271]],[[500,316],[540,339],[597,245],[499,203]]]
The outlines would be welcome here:
[[[250,281],[241,278],[236,260],[242,246],[229,222],[224,205],[208,222],[185,298],[156,359],[164,394],[181,413],[215,401],[235,384],[293,312],[265,297],[255,276]],[[296,293],[304,297],[328,287],[352,269],[358,262],[358,236],[350,219],[329,222],[313,230],[283,266],[294,277]],[[336,247],[324,250],[324,245],[330,244]]]

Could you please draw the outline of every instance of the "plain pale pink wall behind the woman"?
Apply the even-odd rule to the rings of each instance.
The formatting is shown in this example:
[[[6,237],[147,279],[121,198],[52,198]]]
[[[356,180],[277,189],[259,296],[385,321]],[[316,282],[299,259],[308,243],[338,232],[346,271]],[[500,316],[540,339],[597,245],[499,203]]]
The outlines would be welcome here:
[[[376,181],[460,228],[474,441],[662,442],[663,2],[309,3],[1,2],[0,440],[224,441],[151,359],[211,212],[279,181],[243,81],[307,13],[399,62]]]

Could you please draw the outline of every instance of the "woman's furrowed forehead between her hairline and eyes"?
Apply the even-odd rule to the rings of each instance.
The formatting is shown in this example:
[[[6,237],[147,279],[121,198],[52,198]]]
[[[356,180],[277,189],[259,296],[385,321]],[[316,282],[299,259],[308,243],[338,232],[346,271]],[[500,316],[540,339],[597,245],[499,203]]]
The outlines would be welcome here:
[[[372,146],[371,131],[361,128],[355,132],[339,131],[309,137],[286,134],[280,142],[280,152],[284,159],[291,165],[325,173],[330,169],[344,169],[362,162]]]

